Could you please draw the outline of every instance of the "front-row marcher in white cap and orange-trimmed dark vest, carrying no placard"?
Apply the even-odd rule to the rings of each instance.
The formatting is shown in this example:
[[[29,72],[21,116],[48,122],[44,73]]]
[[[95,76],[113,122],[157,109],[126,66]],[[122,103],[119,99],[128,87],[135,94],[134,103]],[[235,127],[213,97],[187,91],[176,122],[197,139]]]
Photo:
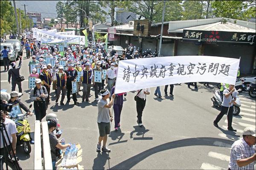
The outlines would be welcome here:
[[[61,95],[61,105],[64,105],[63,101],[66,95],[66,85],[67,85],[67,74],[63,71],[63,66],[60,65],[58,67],[58,72],[55,73],[53,81],[56,83],[56,101],[55,103],[58,104],[58,99]]]

